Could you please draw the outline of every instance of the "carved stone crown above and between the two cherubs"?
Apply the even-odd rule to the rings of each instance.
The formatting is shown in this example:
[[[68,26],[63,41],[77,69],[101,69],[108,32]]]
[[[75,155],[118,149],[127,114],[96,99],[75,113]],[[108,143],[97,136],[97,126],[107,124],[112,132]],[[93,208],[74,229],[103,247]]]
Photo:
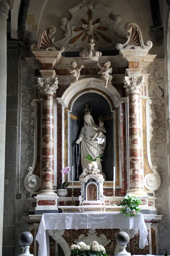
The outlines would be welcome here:
[[[91,39],[90,43],[88,43],[88,49],[79,53],[80,57],[88,61],[99,61],[102,52],[95,51],[94,46],[94,40]]]

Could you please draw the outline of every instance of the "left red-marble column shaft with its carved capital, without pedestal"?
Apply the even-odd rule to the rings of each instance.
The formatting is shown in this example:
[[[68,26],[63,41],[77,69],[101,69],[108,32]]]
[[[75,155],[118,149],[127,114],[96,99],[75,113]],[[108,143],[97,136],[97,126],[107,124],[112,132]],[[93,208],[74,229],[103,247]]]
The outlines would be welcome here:
[[[42,169],[40,193],[54,192],[54,118],[53,96],[58,88],[57,78],[38,78],[42,94]]]

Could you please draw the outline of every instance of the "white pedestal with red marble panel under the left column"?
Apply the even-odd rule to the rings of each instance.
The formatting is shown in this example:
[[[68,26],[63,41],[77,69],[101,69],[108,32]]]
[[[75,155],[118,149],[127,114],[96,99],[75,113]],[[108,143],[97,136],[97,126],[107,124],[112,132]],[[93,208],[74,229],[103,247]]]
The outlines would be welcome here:
[[[58,212],[57,200],[59,196],[56,193],[40,193],[35,196],[37,206],[35,207],[35,215],[42,215],[42,213],[56,213]]]

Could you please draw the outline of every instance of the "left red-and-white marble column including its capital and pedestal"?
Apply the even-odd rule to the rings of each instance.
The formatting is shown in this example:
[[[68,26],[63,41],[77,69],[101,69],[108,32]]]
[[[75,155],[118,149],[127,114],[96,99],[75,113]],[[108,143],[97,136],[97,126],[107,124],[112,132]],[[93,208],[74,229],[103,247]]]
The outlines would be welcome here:
[[[54,118],[53,96],[58,88],[57,78],[38,78],[38,88],[42,95],[42,155],[41,155],[41,188],[35,198],[35,214],[58,212],[54,192]]]

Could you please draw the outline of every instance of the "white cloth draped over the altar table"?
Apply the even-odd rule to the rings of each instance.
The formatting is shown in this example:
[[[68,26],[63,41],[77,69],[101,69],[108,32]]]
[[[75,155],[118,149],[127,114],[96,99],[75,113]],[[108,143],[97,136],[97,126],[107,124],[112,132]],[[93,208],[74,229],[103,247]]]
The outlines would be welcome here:
[[[46,230],[64,229],[138,229],[139,248],[147,243],[147,228],[142,214],[126,218],[122,213],[44,213],[36,240],[39,243],[38,256],[49,256],[49,237]]]

